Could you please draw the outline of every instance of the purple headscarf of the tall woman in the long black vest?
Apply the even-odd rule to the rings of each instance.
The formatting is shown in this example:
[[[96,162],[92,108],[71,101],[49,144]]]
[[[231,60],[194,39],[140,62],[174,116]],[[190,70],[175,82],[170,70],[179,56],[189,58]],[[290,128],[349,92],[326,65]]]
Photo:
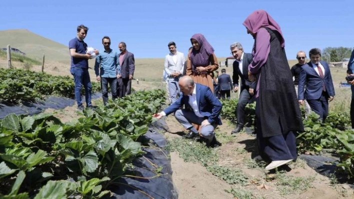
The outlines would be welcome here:
[[[282,41],[280,41],[281,47],[285,46],[285,40],[282,36],[280,26],[275,22],[273,18],[271,18],[271,16],[265,10],[255,10],[254,12],[249,14],[249,16],[246,18],[246,20],[244,20],[242,24],[246,26],[246,28],[248,28],[248,30],[250,30],[253,34],[256,34],[261,27],[267,27],[269,29],[276,30],[277,32],[279,32],[282,38]]]

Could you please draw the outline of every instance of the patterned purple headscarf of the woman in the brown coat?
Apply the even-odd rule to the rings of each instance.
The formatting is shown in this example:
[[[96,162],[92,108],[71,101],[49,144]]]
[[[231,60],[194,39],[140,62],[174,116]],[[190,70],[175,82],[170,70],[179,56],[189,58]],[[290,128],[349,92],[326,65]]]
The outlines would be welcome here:
[[[209,44],[209,42],[207,42],[204,35],[202,34],[193,34],[190,40],[191,39],[195,39],[200,47],[199,50],[195,50],[193,48],[190,53],[191,68],[192,71],[194,71],[195,67],[208,66],[210,64],[209,56],[214,52],[214,48],[212,48],[212,46]]]

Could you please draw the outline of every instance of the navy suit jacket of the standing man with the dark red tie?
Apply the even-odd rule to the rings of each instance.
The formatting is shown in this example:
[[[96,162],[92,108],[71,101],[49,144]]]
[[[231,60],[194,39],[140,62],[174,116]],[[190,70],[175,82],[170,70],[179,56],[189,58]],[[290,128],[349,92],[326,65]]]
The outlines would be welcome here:
[[[322,94],[322,82],[324,82],[325,90],[329,96],[335,95],[332,76],[327,62],[319,61],[324,68],[324,78],[320,78],[317,72],[314,70],[311,62],[301,66],[300,77],[298,81],[298,100],[313,100],[319,99]],[[304,90],[306,85],[306,90]]]

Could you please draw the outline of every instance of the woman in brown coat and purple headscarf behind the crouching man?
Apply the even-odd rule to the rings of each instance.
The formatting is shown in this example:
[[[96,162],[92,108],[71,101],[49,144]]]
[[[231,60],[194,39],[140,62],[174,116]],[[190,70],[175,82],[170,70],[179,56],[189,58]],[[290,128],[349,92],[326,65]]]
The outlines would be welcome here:
[[[186,75],[191,76],[195,83],[208,86],[214,92],[212,81],[216,79],[213,71],[219,67],[214,48],[202,34],[194,34],[190,42],[193,49],[188,54]]]

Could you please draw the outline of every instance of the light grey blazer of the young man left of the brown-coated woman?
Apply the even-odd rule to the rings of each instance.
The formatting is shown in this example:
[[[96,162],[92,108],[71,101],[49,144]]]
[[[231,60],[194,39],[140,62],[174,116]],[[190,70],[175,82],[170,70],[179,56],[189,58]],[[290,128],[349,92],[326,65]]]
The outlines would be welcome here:
[[[164,71],[167,74],[167,81],[178,81],[179,77],[181,77],[183,74],[185,62],[184,54],[182,52],[177,51],[175,56],[177,57],[176,63],[174,63],[173,58],[170,54],[167,54],[164,58]],[[174,78],[170,76],[173,72],[180,72],[181,75],[179,75],[179,77],[177,78]]]

